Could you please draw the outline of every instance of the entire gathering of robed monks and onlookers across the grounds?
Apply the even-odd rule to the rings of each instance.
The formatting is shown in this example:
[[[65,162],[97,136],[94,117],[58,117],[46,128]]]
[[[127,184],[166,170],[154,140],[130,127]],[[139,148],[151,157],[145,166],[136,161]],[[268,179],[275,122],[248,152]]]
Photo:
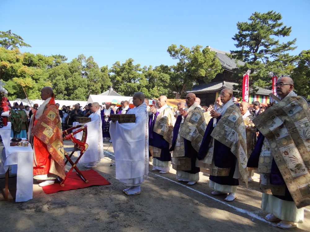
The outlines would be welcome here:
[[[268,107],[254,102],[252,110],[248,102],[234,104],[229,88],[222,89],[214,104],[202,107],[193,93],[171,110],[166,96],[150,106],[144,94],[136,92],[133,109],[128,101],[122,101],[117,109],[94,102],[85,110],[78,104],[73,110],[65,106],[59,110],[53,90],[44,87],[44,103],[30,111],[35,116],[34,178],[44,180],[40,185],[44,186],[64,177],[64,151],[57,149],[63,146],[58,123],[61,113],[68,118],[62,120],[64,128],[72,126],[77,117],[89,117],[89,148],[79,162],[95,168],[107,138],[114,149],[116,178],[127,186],[123,190],[126,195],[141,193],[149,161],[153,162],[152,171],[160,174],[169,173],[172,164],[176,179],[187,185],[199,181],[201,168],[209,170],[211,194],[224,195],[225,201],[235,200],[239,180],[247,186],[256,170],[263,192],[261,207],[268,212],[265,219],[278,222],[282,229],[294,228],[303,222],[303,207],[310,204],[310,112],[308,102],[293,88],[290,77],[279,78],[275,101]],[[27,114],[24,112],[22,119],[16,107],[11,112],[13,120],[20,117],[28,122]],[[135,114],[135,123],[113,122],[111,114]],[[51,134],[44,133],[46,125],[53,129]]]

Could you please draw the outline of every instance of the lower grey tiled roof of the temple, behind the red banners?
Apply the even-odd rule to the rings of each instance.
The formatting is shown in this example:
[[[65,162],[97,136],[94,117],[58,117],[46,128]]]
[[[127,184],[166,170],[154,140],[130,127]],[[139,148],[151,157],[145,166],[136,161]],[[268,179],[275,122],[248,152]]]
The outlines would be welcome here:
[[[233,85],[237,85],[238,83],[235,82],[228,82],[228,81],[220,81],[220,82],[210,82],[207,84],[200,84],[200,85],[195,85],[193,86],[192,90],[188,90],[186,92],[193,92],[193,93],[198,93],[198,92],[218,92],[222,90],[223,88],[231,88],[234,92],[240,92],[236,89],[233,88]],[[264,89],[257,87],[257,92],[255,94],[261,94],[261,95],[269,95],[269,93],[272,93],[272,90]],[[250,89],[250,92],[251,89]]]

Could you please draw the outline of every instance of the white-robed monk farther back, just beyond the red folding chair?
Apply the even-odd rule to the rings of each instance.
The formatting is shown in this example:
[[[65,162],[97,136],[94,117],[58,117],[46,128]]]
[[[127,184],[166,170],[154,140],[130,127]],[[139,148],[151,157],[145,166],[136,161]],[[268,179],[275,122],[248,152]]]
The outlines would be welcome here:
[[[79,160],[79,163],[86,164],[86,168],[95,168],[100,162],[103,155],[102,141],[102,121],[100,116],[100,105],[98,102],[91,104],[93,114],[89,115],[91,122],[87,122],[87,139],[88,148]]]

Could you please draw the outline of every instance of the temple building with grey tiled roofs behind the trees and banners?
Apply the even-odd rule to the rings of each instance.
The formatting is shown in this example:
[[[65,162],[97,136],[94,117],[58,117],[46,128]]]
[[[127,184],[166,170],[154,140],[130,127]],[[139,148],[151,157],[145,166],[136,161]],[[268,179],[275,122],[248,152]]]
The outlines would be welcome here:
[[[237,64],[244,65],[244,62],[238,60],[236,64],[235,59],[231,59],[228,55],[226,55],[229,54],[228,52],[217,50],[211,48],[210,46],[209,49],[216,53],[216,57],[221,62],[224,71],[222,73],[218,73],[210,83],[202,83],[193,86],[191,90],[186,91],[186,94],[194,93],[196,97],[200,98],[201,106],[208,106],[215,102],[215,99],[219,97],[219,93],[223,88],[231,88],[233,91],[232,100],[236,103],[240,102],[240,100],[242,100],[242,91],[239,91],[233,87],[233,85],[237,85],[238,83],[232,79],[232,74],[234,73],[233,69],[237,68]],[[249,103],[252,104],[253,101],[259,101],[263,104],[269,103],[269,93],[272,93],[272,90],[257,86],[255,87],[256,92],[253,92],[250,88]]]

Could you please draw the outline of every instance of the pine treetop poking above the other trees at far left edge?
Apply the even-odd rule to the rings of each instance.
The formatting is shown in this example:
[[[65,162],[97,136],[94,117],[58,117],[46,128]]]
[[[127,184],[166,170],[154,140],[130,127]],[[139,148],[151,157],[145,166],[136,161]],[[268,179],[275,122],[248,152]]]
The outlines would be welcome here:
[[[11,30],[8,30],[7,32],[1,32],[0,31],[0,46],[9,49],[18,48],[20,47],[31,47],[29,44],[26,44],[22,37],[19,35],[16,35],[11,32]]]

